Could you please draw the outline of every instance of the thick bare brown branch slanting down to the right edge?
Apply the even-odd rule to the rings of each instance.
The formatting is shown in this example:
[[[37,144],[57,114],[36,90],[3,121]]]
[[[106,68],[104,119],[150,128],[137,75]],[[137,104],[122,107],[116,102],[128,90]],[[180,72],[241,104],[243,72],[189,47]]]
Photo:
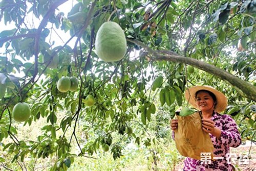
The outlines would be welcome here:
[[[134,39],[127,39],[127,40],[130,42],[133,42],[137,45],[140,45],[149,54],[154,55],[154,60],[157,60],[157,61],[165,60],[165,61],[172,61],[172,62],[178,62],[178,63],[185,63],[188,65],[194,66],[196,68],[199,68],[201,70],[204,70],[211,75],[217,76],[220,79],[227,81],[232,86],[239,88],[241,90],[240,93],[243,93],[242,95],[245,95],[248,99],[256,102],[256,87],[246,81],[239,79],[238,77],[231,75],[229,72],[227,72],[223,69],[220,69],[214,65],[210,65],[206,62],[199,61],[194,58],[183,57],[183,56],[176,54],[172,51],[152,50],[152,48],[148,47],[147,45],[145,45],[144,43],[142,43],[138,40],[134,40]]]

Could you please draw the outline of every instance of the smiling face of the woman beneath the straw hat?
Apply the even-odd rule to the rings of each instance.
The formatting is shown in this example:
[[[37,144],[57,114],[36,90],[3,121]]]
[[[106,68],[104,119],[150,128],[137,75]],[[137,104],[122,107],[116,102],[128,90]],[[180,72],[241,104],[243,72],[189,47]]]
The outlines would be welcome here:
[[[201,111],[211,112],[214,110],[214,99],[208,92],[200,91],[196,96],[197,106]]]

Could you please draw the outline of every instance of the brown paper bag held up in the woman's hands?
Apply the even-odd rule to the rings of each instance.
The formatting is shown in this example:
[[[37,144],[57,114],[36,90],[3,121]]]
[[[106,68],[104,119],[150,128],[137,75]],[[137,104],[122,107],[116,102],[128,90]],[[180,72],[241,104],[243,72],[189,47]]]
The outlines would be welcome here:
[[[202,129],[202,115],[199,112],[188,116],[177,115],[178,129],[175,130],[175,143],[182,156],[200,160],[201,153],[210,153],[214,160],[214,145],[208,133]]]

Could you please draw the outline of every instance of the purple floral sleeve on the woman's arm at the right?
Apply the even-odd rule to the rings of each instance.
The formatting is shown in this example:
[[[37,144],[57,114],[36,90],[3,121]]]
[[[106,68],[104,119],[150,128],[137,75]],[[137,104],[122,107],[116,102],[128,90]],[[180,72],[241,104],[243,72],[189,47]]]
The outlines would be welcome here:
[[[223,127],[221,136],[217,141],[221,144],[236,148],[242,143],[241,135],[238,131],[236,121],[229,115],[223,115]]]

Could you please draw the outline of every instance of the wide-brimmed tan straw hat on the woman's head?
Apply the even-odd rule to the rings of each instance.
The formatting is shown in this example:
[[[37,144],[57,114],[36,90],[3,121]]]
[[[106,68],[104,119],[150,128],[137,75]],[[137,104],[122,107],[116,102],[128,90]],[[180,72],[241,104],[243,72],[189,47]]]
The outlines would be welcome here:
[[[226,96],[223,93],[221,93],[220,91],[212,88],[211,86],[207,86],[207,85],[190,87],[189,89],[187,89],[185,91],[185,98],[187,101],[189,99],[188,103],[190,105],[194,106],[195,108],[198,108],[197,102],[196,102],[196,92],[199,90],[208,90],[208,91],[214,93],[214,95],[216,96],[216,99],[217,99],[217,105],[215,108],[216,112],[220,113],[226,109],[226,107],[227,107]],[[189,94],[190,94],[190,98],[189,98]]]

